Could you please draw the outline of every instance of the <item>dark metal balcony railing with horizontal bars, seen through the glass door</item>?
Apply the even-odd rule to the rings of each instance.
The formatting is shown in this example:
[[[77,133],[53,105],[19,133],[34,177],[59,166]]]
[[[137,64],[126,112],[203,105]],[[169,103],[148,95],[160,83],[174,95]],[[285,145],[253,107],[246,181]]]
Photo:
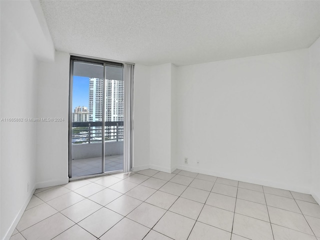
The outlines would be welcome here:
[[[72,122],[72,144],[102,140],[102,121]],[[104,141],[123,140],[123,121],[106,121]]]

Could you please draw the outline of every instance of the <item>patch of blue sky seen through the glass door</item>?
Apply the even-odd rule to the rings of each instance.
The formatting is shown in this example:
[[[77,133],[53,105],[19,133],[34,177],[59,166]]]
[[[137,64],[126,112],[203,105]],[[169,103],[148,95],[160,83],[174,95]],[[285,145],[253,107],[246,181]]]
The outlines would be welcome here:
[[[88,102],[89,102],[89,77],[73,76],[72,112],[76,106],[88,107]]]

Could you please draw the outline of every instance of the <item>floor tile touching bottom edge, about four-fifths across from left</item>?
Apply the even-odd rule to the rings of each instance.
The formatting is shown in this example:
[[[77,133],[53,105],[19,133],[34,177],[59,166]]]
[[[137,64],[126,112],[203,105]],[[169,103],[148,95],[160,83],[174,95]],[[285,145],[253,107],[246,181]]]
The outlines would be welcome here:
[[[273,240],[269,222],[235,213],[232,232],[252,240]]]

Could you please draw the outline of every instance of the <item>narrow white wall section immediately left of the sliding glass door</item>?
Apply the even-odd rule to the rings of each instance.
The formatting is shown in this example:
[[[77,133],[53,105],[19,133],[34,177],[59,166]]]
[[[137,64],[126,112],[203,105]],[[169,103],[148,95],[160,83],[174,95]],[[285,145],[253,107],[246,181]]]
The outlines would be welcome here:
[[[64,120],[37,124],[37,188],[68,181],[69,59],[68,53],[56,51],[54,62],[39,63],[37,115]]]

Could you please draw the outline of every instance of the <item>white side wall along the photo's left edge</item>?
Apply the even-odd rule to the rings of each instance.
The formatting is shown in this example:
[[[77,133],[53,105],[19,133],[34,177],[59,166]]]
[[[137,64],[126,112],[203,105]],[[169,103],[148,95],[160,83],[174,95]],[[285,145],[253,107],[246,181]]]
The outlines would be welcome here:
[[[1,6],[2,10],[2,6]],[[1,12],[1,235],[9,238],[35,186],[37,60]],[[29,189],[27,190],[27,183]],[[10,228],[14,225],[13,228]]]

